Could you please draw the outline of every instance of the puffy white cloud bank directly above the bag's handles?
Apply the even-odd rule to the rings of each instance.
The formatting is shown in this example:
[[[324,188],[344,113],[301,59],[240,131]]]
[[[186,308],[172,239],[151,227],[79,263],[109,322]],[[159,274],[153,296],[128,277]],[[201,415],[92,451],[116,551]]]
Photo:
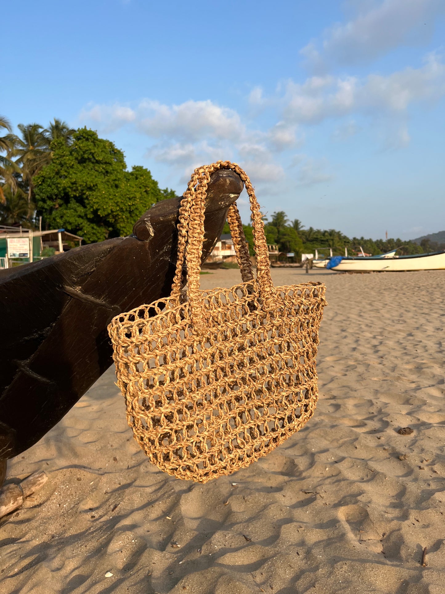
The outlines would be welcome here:
[[[103,130],[131,124],[155,141],[146,156],[183,168],[181,181],[196,166],[218,159],[236,160],[258,182],[276,181],[283,171],[275,154],[297,143],[294,124],[278,122],[266,131],[248,129],[235,110],[210,100],[163,105],[145,99],[134,109],[96,105],[85,109],[81,118]]]

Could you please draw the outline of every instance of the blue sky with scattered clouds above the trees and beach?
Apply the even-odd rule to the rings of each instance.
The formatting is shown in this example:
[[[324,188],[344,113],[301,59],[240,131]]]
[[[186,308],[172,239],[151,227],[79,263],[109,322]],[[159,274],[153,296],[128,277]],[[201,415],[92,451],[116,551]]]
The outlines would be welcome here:
[[[25,0],[2,16],[20,32],[0,90],[14,125],[97,129],[178,194],[195,166],[234,160],[263,211],[306,226],[445,229],[443,0]]]

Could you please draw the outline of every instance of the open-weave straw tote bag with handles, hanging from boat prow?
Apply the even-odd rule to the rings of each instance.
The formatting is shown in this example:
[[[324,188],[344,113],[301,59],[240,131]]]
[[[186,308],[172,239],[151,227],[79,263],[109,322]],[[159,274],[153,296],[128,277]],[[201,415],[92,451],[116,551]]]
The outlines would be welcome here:
[[[256,279],[233,204],[227,219],[243,282],[204,291],[205,198],[217,169],[233,169],[249,194]],[[204,483],[265,456],[313,415],[325,285],[274,287],[255,192],[235,163],[195,169],[178,229],[171,296],[117,315],[108,330],[136,441],[161,470]]]

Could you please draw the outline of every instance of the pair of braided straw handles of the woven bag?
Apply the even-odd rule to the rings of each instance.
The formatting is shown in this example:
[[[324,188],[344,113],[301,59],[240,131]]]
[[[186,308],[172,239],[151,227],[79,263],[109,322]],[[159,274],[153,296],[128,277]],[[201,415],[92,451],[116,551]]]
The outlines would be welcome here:
[[[179,237],[176,273],[171,286],[172,296],[179,296],[182,290],[182,271],[184,260],[187,265],[187,296],[190,304],[192,324],[196,331],[204,331],[206,311],[199,291],[199,272],[201,270],[202,244],[204,240],[204,212],[207,187],[212,173],[218,169],[231,169],[237,173],[246,188],[252,211],[253,243],[256,255],[256,279],[263,307],[272,306],[275,294],[269,264],[269,253],[264,233],[264,223],[255,191],[249,176],[236,163],[218,161],[212,165],[198,167],[193,172],[179,209]],[[229,207],[227,220],[232,233],[237,260],[241,268],[243,282],[253,280],[249,249],[244,236],[243,225],[237,207]]]

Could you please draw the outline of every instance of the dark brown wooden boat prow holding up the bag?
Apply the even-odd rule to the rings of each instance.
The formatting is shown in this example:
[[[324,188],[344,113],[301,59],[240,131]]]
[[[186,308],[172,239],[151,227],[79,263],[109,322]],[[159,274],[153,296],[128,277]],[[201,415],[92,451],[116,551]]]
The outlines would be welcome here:
[[[212,175],[203,261],[243,182]],[[6,460],[36,443],[112,365],[107,325],[170,294],[180,198],[155,204],[134,235],[0,271],[0,486]]]

